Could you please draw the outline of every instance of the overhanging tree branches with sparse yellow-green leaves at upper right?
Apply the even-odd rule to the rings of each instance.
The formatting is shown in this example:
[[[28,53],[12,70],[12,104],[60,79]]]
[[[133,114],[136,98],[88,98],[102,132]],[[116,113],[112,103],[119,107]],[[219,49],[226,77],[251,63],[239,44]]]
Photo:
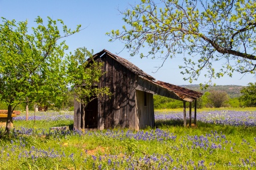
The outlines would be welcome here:
[[[184,80],[197,80],[206,69],[208,85],[212,78],[232,76],[234,71],[255,75],[255,8],[251,0],[141,0],[120,11],[127,24],[122,31],[107,35],[110,41],[125,42],[131,56],[147,48],[141,58],[158,57],[164,63],[183,54]],[[216,71],[213,63],[221,59],[222,69]]]

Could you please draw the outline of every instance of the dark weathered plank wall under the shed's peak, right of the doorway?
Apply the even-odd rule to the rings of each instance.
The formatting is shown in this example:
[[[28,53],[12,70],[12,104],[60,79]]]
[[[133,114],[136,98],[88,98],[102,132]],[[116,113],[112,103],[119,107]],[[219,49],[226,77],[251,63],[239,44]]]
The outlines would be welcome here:
[[[115,59],[102,56],[96,61],[104,62],[106,74],[101,78],[101,85],[109,87],[112,96],[104,96],[101,100],[101,114],[104,119],[104,128],[136,129],[135,79],[131,73]]]

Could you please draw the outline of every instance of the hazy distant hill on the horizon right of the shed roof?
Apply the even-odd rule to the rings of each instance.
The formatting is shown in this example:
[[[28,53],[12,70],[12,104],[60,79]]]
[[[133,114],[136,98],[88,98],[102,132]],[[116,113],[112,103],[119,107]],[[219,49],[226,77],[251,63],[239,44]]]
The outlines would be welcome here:
[[[191,90],[199,91],[199,92],[206,92],[206,91],[212,91],[212,90],[220,90],[220,91],[225,91],[229,95],[230,98],[234,97],[240,97],[241,93],[240,91],[242,90],[243,87],[245,86],[237,86],[237,85],[225,85],[225,86],[210,86],[207,88],[207,90],[200,90],[199,85],[182,85],[181,87],[185,87]]]

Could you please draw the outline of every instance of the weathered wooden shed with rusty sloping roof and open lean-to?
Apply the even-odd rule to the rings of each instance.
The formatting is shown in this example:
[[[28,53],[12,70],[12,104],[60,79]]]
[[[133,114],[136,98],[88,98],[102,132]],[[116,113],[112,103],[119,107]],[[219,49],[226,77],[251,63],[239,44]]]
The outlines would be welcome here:
[[[184,104],[186,101],[196,101],[202,95],[200,92],[156,80],[127,59],[108,50],[94,54],[93,58],[104,62],[102,71],[106,71],[100,83],[95,86],[109,87],[112,96],[110,99],[102,96],[91,101],[85,107],[85,122],[81,118],[83,107],[75,100],[74,129],[81,129],[83,124],[85,128],[99,130],[115,127],[139,130],[155,126],[153,94],[181,100]],[[189,110],[191,114],[191,105]]]

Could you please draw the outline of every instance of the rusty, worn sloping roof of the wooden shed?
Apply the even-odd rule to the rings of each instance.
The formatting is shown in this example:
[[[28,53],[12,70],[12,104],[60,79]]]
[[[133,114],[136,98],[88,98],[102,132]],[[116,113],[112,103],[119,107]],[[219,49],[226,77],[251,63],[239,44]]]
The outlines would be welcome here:
[[[95,54],[94,57],[99,56],[99,55],[102,56],[104,53],[107,53],[108,56],[114,58],[116,61],[121,63],[127,69],[132,71],[134,74],[139,75],[142,78],[148,80],[151,83],[157,84],[160,87],[166,88],[168,91],[174,92],[182,100],[193,101],[203,95],[200,92],[189,90],[188,88],[184,88],[184,87],[176,86],[174,84],[156,80],[154,77],[152,77],[151,75],[148,75],[147,73],[145,73],[144,71],[139,69],[139,67],[135,66],[133,63],[131,63],[127,59],[119,57],[115,54],[112,54],[108,50],[104,49],[100,53]]]

